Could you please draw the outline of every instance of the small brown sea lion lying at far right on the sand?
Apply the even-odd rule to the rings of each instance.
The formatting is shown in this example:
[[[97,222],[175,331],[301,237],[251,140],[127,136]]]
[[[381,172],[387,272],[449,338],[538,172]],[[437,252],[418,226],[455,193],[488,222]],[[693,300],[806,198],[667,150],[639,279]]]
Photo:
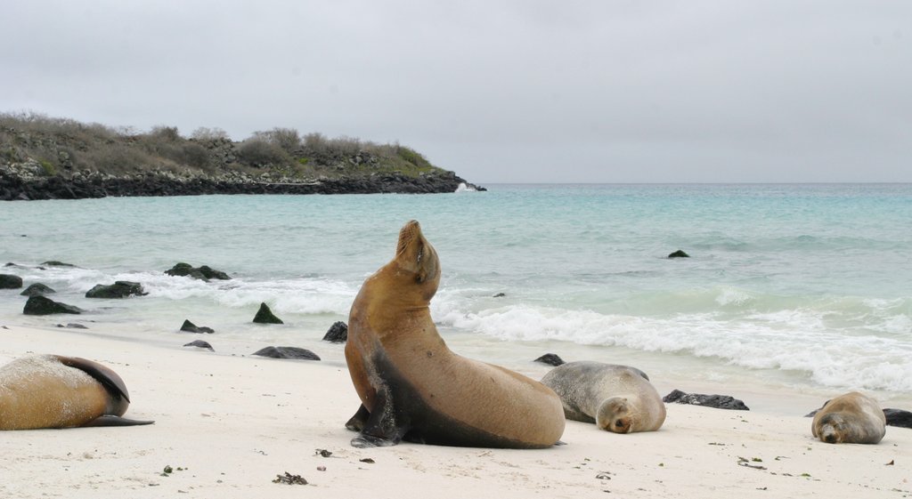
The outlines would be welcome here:
[[[886,417],[876,400],[849,392],[814,414],[811,433],[825,443],[878,443],[886,434]]]

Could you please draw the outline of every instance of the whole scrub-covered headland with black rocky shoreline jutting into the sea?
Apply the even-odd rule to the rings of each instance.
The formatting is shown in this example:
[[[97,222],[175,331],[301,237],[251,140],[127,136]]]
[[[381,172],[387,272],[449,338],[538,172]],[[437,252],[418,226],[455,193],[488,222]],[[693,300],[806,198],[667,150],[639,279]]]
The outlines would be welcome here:
[[[483,190],[399,144],[304,137],[289,128],[234,141],[35,114],[0,114],[0,200],[200,194],[368,194]]]

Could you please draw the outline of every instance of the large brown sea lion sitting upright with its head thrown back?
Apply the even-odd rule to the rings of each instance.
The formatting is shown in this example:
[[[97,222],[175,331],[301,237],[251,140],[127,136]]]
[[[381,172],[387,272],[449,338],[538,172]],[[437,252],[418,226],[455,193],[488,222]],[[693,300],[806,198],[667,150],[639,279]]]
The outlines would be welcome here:
[[[396,256],[364,281],[348,318],[346,361],[361,399],[356,447],[409,442],[544,448],[564,433],[561,401],[542,383],[450,351],[430,318],[440,260],[417,221]]]

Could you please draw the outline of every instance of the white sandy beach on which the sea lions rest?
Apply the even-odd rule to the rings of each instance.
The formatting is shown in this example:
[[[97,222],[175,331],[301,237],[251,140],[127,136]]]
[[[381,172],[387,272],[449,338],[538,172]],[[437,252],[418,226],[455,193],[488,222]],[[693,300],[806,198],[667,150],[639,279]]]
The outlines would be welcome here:
[[[0,433],[0,497],[912,496],[912,430],[887,427],[877,445],[833,445],[812,438],[810,418],[773,412],[669,404],[656,433],[567,422],[566,445],[546,450],[356,449],[344,423],[358,398],[340,358],[278,361],[180,344],[0,328],[0,363],[31,353],[104,363],[130,390],[125,416],[156,422]],[[166,466],[173,471],[163,475]],[[273,483],[285,472],[309,484]]]

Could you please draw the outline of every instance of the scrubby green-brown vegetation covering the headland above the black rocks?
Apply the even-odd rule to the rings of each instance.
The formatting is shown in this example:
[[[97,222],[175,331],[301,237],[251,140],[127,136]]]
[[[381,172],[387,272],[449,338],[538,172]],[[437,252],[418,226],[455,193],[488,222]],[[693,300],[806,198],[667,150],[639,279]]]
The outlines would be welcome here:
[[[200,127],[183,137],[177,127],[140,133],[36,113],[0,114],[0,167],[26,162],[37,164],[48,177],[81,170],[111,175],[237,171],[306,181],[378,174],[418,177],[440,171],[419,152],[399,144],[320,133],[302,137],[294,128],[276,127],[233,141],[217,127]]]

